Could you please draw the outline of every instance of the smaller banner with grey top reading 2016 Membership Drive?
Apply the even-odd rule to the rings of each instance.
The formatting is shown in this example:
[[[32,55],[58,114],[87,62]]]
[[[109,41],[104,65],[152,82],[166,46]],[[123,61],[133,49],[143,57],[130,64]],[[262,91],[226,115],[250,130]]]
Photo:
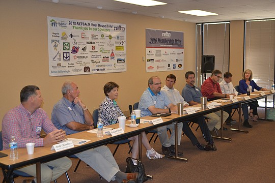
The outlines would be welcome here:
[[[183,32],[146,28],[146,72],[183,70]]]

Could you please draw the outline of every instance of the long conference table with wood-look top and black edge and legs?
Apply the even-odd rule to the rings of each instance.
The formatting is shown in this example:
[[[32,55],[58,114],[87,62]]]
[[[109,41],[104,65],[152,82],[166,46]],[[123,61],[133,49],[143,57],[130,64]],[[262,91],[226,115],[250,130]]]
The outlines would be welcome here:
[[[127,139],[129,137],[135,136],[135,135],[139,135],[139,158],[142,159],[142,143],[141,143],[141,133],[144,131],[149,131],[161,126],[166,126],[169,125],[171,123],[175,124],[175,137],[177,137],[177,124],[181,123],[182,121],[187,121],[193,117],[197,117],[197,116],[202,116],[211,112],[216,112],[216,111],[221,111],[221,127],[223,127],[223,109],[225,107],[229,107],[229,106],[233,106],[233,105],[239,105],[239,111],[241,111],[241,105],[245,104],[245,103],[249,103],[255,100],[259,100],[262,98],[265,98],[265,104],[266,104],[266,100],[267,97],[270,95],[274,95],[275,93],[273,93],[274,91],[272,91],[272,93],[270,91],[265,92],[263,95],[262,92],[253,92],[252,95],[250,96],[250,99],[246,99],[244,100],[243,97],[246,96],[245,95],[240,95],[238,96],[238,101],[237,102],[222,102],[221,106],[217,106],[215,108],[212,109],[205,109],[205,110],[199,110],[196,111],[196,113],[193,114],[183,114],[183,115],[178,115],[173,113],[170,116],[167,117],[162,117],[163,123],[159,123],[156,125],[153,124],[149,124],[149,123],[145,123],[145,124],[140,124],[138,127],[135,128],[131,128],[126,126],[125,127],[125,133],[117,135],[117,136],[111,136],[111,135],[104,135],[103,138],[98,138],[96,134],[93,133],[88,133],[86,131],[84,132],[79,132],[76,134],[71,134],[71,135],[67,135],[67,138],[76,138],[76,139],[86,139],[86,140],[90,140],[89,142],[82,144],[82,145],[75,145],[74,147],[70,148],[70,149],[66,149],[66,150],[62,150],[62,151],[54,151],[54,150],[50,150],[53,144],[50,145],[45,145],[43,147],[35,147],[35,152],[33,155],[28,155],[26,152],[26,148],[18,148],[18,154],[19,154],[19,158],[17,160],[10,160],[9,156],[7,157],[3,157],[0,158],[0,166],[3,170],[4,173],[4,179],[3,182],[12,182],[12,172],[14,169],[26,166],[26,165],[31,165],[31,164],[36,164],[36,172],[37,172],[37,182],[40,183],[41,182],[41,168],[40,165],[41,163],[44,162],[48,162],[48,161],[52,161],[55,159],[59,159],[65,156],[70,156],[76,153],[80,153],[81,151],[85,151],[88,150],[90,148],[95,148],[101,145],[106,145],[108,143],[112,143],[118,140],[122,140],[122,139]],[[261,94],[262,93],[262,94]],[[274,101],[273,101],[274,102]],[[196,107],[200,107],[200,105],[195,105]],[[264,118],[266,119],[266,109],[267,106],[265,105],[265,116]],[[146,120],[152,120],[155,119],[157,117],[151,117],[151,116],[145,116],[142,117],[142,119],[146,119]],[[248,131],[244,131],[241,130],[241,112],[239,112],[239,127],[238,129],[231,129],[237,132],[245,132],[248,133]],[[126,124],[129,124],[129,121],[126,121]],[[114,124],[111,126],[108,126],[109,128],[119,128],[118,124]],[[214,138],[214,137],[213,137]],[[231,140],[230,138],[226,138],[223,137],[223,128],[221,128],[221,136],[219,137],[215,137],[218,139],[224,139],[224,140]],[[177,138],[175,138],[175,151],[177,152]],[[6,150],[2,150],[2,153],[5,153],[7,155],[9,155],[10,153],[10,149],[6,149]],[[178,160],[183,160],[185,162],[188,161],[188,159],[185,158],[179,158],[177,153],[174,157],[168,157],[168,158],[174,158],[174,159],[178,159]]]

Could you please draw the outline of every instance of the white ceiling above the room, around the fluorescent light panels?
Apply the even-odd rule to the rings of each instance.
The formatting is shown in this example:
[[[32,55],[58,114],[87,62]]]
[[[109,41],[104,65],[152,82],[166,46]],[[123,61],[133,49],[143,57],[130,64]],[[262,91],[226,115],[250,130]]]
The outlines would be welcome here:
[[[51,2],[51,0],[38,0]],[[139,0],[136,0],[139,1]],[[86,8],[103,7],[102,10],[132,13],[138,15],[168,18],[173,20],[200,22],[218,22],[230,20],[253,20],[275,18],[275,0],[158,0],[167,5],[143,7],[113,0],[60,0],[59,4],[68,4]],[[203,10],[218,15],[199,17],[178,13],[183,10]]]

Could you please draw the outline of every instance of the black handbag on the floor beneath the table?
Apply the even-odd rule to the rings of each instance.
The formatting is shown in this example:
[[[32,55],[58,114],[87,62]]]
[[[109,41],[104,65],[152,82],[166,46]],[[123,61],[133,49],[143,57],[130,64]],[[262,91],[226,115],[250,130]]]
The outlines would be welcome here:
[[[136,165],[133,164],[132,160],[136,160]],[[126,158],[127,162],[127,167],[126,167],[126,173],[134,173],[134,172],[139,172],[139,176],[136,178],[136,182],[142,183],[148,180],[146,173],[145,173],[145,168],[141,160],[139,159],[134,159],[131,157]]]

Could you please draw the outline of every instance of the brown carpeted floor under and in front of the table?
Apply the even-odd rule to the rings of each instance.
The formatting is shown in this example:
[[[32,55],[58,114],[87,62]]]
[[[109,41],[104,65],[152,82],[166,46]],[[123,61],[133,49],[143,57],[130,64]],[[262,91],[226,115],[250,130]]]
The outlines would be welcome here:
[[[262,116],[262,110],[260,117]],[[237,119],[237,115],[233,118]],[[259,120],[251,122],[252,129],[248,134],[233,131],[224,131],[224,136],[232,138],[232,141],[214,140],[217,151],[202,151],[193,146],[190,140],[184,135],[181,139],[180,151],[183,151],[184,158],[188,162],[173,159],[149,160],[143,148],[143,163],[146,173],[153,175],[152,180],[147,182],[275,182],[275,121]],[[233,128],[237,128],[234,125]],[[229,126],[227,126],[230,128]],[[204,139],[200,130],[193,131],[201,143]],[[151,137],[148,134],[148,139]],[[153,148],[161,152],[159,140],[151,142]],[[108,145],[113,152],[115,145]],[[121,145],[115,155],[115,159],[122,171],[125,171],[125,159],[129,156],[128,145]],[[81,162],[76,173],[73,169],[78,159],[72,159],[73,166],[69,170],[71,182],[107,182],[100,180],[99,175],[90,167]],[[42,172],[43,173],[43,172]],[[1,174],[0,180],[3,179]],[[24,178],[18,177],[15,182],[22,182]],[[65,175],[62,175],[58,182],[67,182]]]

